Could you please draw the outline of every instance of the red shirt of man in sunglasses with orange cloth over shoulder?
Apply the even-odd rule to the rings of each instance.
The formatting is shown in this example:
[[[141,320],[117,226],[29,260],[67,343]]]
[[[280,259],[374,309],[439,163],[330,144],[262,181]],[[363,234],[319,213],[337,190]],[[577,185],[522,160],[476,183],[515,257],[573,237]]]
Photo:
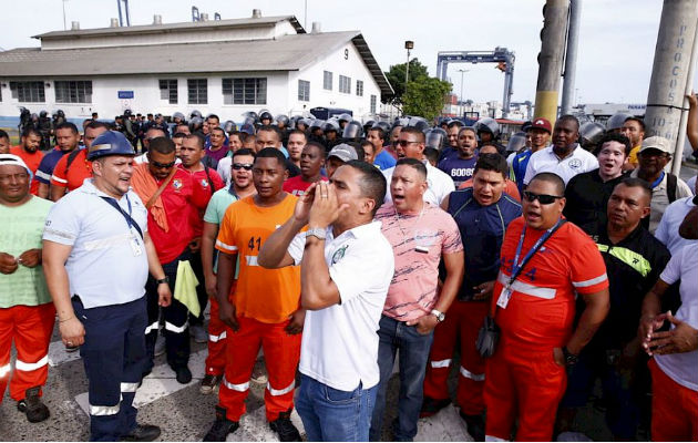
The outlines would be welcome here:
[[[163,181],[157,181],[157,186]],[[160,262],[165,265],[177,258],[194,238],[192,212],[206,208],[201,193],[194,193],[194,182],[189,173],[177,169],[167,187],[161,194],[167,214],[168,231],[164,231],[153,214],[147,213],[147,230],[155,245]]]

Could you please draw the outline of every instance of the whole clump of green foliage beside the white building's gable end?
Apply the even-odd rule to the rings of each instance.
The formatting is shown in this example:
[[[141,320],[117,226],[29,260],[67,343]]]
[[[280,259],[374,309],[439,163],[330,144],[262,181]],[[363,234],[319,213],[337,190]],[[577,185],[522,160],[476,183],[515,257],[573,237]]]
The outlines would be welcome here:
[[[446,94],[451,91],[451,83],[429,76],[427,66],[418,59],[410,60],[410,79],[408,91],[404,92],[404,71],[407,63],[394,64],[386,72],[388,81],[394,90],[394,95],[383,96],[383,103],[402,105],[402,112],[408,115],[419,115],[432,120],[441,114]]]

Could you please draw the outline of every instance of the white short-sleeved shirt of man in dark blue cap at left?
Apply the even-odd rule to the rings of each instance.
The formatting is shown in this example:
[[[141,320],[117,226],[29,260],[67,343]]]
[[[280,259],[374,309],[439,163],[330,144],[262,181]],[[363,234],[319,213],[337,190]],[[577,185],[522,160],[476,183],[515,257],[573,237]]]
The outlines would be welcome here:
[[[43,239],[72,246],[65,269],[71,296],[78,295],[86,309],[122,305],[145,293],[147,256],[145,245],[116,208],[104,202],[106,194],[92,178],[55,203],[47,217]],[[147,230],[147,212],[141,198],[129,190],[119,206]],[[132,241],[137,240],[134,249]]]

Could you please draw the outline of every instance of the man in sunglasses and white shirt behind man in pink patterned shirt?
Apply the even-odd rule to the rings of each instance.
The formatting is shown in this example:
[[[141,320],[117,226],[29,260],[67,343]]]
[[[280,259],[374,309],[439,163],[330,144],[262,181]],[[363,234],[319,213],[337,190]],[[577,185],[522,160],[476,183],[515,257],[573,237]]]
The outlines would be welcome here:
[[[424,163],[427,166],[427,190],[424,192],[424,202],[429,202],[432,205],[439,206],[441,202],[453,190],[455,186],[451,177],[443,171],[433,167],[424,156],[424,133],[415,127],[406,126],[400,130],[400,135],[396,143],[396,150],[398,153],[398,159],[400,158],[415,158]],[[386,182],[392,181],[392,173],[394,166],[382,171],[386,176]],[[386,194],[386,202],[392,202],[390,193]]]

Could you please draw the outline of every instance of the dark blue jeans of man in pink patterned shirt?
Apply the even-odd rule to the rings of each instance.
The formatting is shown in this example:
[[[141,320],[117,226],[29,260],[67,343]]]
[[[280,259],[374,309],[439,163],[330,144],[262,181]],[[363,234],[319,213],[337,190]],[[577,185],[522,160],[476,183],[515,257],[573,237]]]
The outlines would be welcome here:
[[[382,316],[379,323],[378,365],[380,382],[371,419],[370,440],[380,441],[386,411],[386,391],[392,374],[396,352],[400,350],[400,396],[394,441],[411,442],[417,435],[417,421],[424,396],[424,374],[434,332],[422,336],[413,326]]]

